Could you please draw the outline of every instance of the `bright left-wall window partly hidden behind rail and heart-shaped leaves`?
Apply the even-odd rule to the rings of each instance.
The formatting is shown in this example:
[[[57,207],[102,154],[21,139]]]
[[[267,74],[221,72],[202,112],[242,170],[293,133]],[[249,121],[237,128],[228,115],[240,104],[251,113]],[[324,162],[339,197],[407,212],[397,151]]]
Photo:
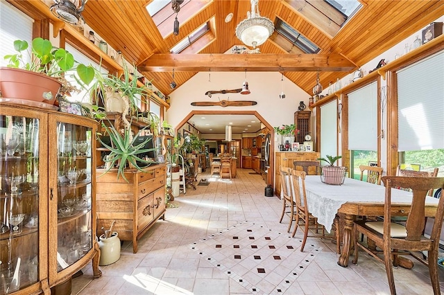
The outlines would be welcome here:
[[[70,44],[67,43],[65,45],[65,49],[67,51],[69,51],[69,53],[71,53],[74,56],[74,60],[76,60],[76,62],[80,62],[81,64],[85,64],[85,65],[91,64],[92,66],[94,66],[94,68],[99,69],[99,64],[96,64],[95,62],[90,60],[88,57],[83,55],[83,53],[81,53],[76,48],[74,48],[74,46],[71,46]],[[103,67],[100,67],[100,71],[104,74],[108,74],[108,70],[104,69]],[[75,73],[75,71],[67,71],[67,73],[65,74],[65,78],[67,79],[67,81],[69,83],[71,83],[71,85],[76,86],[80,90],[80,85],[77,83],[76,79],[74,78],[74,73]],[[91,82],[90,84],[93,84],[93,83],[94,83],[94,81]],[[77,102],[91,102],[90,101],[91,99],[89,97],[89,93],[87,90],[82,90],[79,93],[72,91],[71,97],[67,97],[67,100],[69,100],[71,102],[75,102],[75,101],[77,101]]]

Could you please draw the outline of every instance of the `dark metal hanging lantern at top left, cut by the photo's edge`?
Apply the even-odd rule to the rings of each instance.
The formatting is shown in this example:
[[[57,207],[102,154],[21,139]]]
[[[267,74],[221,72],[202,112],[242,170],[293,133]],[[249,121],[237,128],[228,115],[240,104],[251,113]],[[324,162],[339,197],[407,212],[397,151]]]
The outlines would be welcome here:
[[[54,0],[54,4],[49,8],[53,15],[69,24],[77,24],[80,19],[85,22],[80,12],[85,9],[88,0]]]

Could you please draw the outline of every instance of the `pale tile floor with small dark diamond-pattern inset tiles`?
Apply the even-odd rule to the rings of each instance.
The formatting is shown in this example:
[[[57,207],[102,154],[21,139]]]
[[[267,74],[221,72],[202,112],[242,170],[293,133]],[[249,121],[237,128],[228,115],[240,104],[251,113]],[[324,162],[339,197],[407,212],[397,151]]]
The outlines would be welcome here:
[[[187,189],[139,240],[133,253],[124,242],[121,258],[92,279],[87,265],[73,279],[72,294],[390,294],[384,266],[359,256],[359,265],[336,264],[331,240],[287,233],[278,223],[282,203],[264,197],[264,181],[237,170],[225,181],[208,174],[209,186]],[[444,271],[440,269],[444,291]],[[433,294],[428,269],[394,270],[398,294]]]

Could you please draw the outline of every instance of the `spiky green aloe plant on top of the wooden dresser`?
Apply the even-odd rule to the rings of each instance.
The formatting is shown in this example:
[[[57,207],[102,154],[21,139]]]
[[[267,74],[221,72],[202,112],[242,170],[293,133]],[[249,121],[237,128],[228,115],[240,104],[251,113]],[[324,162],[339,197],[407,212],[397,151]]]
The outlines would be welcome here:
[[[105,170],[103,174],[108,172],[112,167],[114,167],[116,163],[118,163],[119,166],[117,170],[117,179],[119,179],[119,176],[121,175],[123,179],[126,180],[126,182],[129,182],[128,179],[126,179],[125,177],[125,168],[128,166],[128,163],[139,171],[144,170],[139,167],[138,163],[145,163],[148,165],[154,163],[154,161],[146,161],[137,156],[138,154],[155,150],[154,148],[144,149],[146,143],[152,140],[151,138],[147,138],[146,141],[135,145],[137,137],[144,129],[139,130],[139,132],[137,132],[137,134],[132,138],[130,135],[130,129],[124,129],[123,135],[121,135],[120,132],[117,131],[117,129],[115,129],[113,125],[102,125],[105,131],[110,136],[110,141],[112,143],[111,145],[107,145],[106,143],[103,143],[100,137],[98,137],[103,147],[106,147],[108,148],[108,150],[111,151],[110,154],[108,154],[108,157],[105,158],[105,162],[111,163],[111,165],[107,170]]]

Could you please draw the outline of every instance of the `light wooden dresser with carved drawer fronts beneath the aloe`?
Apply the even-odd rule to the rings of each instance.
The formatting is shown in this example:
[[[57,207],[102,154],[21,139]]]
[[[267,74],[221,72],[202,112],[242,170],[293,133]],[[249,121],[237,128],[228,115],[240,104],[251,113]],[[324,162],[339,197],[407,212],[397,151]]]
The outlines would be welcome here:
[[[125,176],[117,179],[117,171],[97,169],[97,229],[109,229],[116,220],[113,231],[120,240],[132,241],[133,252],[137,253],[137,240],[150,229],[155,221],[164,218],[165,183],[167,164],[144,168],[145,172],[128,169]]]

